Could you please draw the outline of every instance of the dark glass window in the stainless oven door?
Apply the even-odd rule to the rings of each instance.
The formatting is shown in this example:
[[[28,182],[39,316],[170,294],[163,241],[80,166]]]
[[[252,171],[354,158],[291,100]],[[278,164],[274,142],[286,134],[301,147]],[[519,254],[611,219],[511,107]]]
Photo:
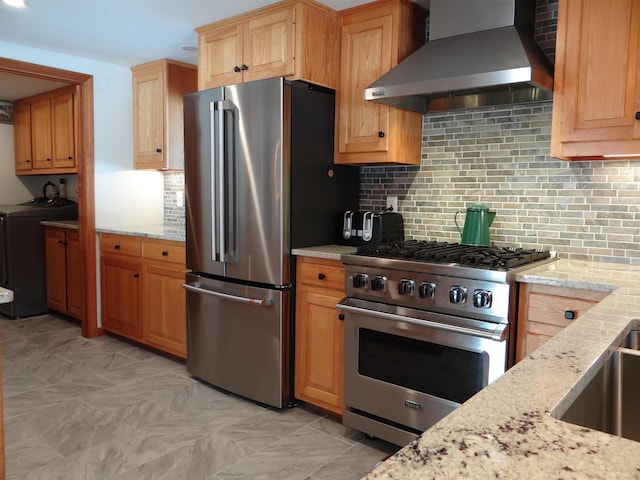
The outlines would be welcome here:
[[[489,356],[447,345],[358,329],[358,373],[452,402],[487,385]]]

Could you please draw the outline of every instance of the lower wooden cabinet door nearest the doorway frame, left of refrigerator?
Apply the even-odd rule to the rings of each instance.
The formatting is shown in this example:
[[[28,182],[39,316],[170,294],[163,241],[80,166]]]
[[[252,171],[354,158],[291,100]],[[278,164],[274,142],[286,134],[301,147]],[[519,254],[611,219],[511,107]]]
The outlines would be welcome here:
[[[102,327],[134,340],[142,339],[141,264],[126,256],[101,259]]]

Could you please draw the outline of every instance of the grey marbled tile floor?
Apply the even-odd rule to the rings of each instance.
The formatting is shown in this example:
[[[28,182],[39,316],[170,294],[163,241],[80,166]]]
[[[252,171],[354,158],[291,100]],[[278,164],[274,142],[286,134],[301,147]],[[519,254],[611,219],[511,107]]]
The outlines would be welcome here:
[[[8,480],[355,480],[397,450],[55,315],[0,315],[0,339]]]

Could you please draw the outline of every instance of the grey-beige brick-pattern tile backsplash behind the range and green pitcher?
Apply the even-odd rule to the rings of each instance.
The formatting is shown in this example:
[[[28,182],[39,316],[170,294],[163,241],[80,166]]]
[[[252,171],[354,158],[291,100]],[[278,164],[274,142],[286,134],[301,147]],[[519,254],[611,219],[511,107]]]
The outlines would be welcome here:
[[[397,195],[407,238],[458,242],[456,211],[480,203],[497,212],[496,245],[640,265],[640,161],[550,157],[551,111],[425,114],[420,167],[361,167],[360,207],[381,211]]]

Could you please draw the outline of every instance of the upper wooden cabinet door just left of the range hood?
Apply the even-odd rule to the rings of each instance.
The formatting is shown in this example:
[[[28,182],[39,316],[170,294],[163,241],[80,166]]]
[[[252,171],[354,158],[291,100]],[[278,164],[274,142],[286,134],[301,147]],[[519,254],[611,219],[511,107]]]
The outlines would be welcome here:
[[[338,152],[388,150],[389,107],[362,98],[391,69],[391,15],[342,27]]]

